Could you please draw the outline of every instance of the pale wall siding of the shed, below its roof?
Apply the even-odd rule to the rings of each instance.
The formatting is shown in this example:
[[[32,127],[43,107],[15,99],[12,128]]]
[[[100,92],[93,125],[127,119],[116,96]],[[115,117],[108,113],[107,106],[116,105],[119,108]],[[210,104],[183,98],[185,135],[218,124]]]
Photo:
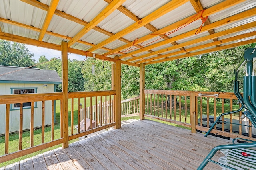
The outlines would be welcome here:
[[[37,93],[54,92],[54,84],[47,84],[44,88],[43,84],[24,84],[24,83],[0,83],[0,95],[11,94],[10,88],[37,88]],[[31,109],[23,109],[23,129],[30,129]],[[45,125],[51,124],[52,103],[45,102]],[[0,105],[0,134],[5,133],[6,125],[6,105]],[[20,127],[20,110],[10,110],[10,132],[19,130]],[[34,108],[34,127],[42,126],[42,101],[37,102],[37,108]]]

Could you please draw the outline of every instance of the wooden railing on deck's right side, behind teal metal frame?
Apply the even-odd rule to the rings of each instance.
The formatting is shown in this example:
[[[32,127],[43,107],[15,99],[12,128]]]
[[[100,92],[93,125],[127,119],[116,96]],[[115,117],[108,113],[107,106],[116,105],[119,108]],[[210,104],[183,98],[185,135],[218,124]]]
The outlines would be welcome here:
[[[206,132],[216,117],[240,108],[234,93],[144,90],[145,117],[151,117]],[[194,106],[190,105],[194,104]],[[225,137],[256,137],[251,122],[240,119],[242,111],[225,115],[211,133]],[[248,126],[244,126],[248,125]]]

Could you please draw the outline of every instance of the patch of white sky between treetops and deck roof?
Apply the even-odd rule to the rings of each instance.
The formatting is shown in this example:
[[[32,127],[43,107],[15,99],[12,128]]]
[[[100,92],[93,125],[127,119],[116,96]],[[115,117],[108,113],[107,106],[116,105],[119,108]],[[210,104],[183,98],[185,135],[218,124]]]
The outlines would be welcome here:
[[[58,50],[46,49],[46,48],[37,47],[34,45],[26,45],[26,47],[28,48],[30,53],[34,54],[34,57],[32,59],[34,59],[35,61],[38,61],[38,59],[41,55],[44,55],[47,59],[51,59],[53,57],[57,58],[57,57],[61,56],[61,51],[58,51]],[[68,58],[71,60],[73,60],[73,59],[84,60],[85,56],[76,55],[76,54],[71,53],[68,55]]]

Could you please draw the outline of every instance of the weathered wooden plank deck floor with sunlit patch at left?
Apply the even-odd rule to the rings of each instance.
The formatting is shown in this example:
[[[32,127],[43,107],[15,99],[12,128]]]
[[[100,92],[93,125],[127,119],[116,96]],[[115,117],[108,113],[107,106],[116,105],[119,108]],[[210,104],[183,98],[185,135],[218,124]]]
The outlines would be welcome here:
[[[120,129],[16,162],[5,169],[195,170],[214,146],[227,143],[231,142],[155,121],[123,122]],[[220,156],[223,154],[218,152],[214,160]],[[221,168],[208,163],[205,169]]]

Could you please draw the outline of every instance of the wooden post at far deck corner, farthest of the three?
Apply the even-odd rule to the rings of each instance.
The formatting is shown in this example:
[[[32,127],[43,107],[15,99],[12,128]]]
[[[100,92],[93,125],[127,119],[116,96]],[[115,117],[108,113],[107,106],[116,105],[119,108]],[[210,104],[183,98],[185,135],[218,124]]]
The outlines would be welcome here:
[[[145,119],[145,64],[140,64],[140,120]]]

